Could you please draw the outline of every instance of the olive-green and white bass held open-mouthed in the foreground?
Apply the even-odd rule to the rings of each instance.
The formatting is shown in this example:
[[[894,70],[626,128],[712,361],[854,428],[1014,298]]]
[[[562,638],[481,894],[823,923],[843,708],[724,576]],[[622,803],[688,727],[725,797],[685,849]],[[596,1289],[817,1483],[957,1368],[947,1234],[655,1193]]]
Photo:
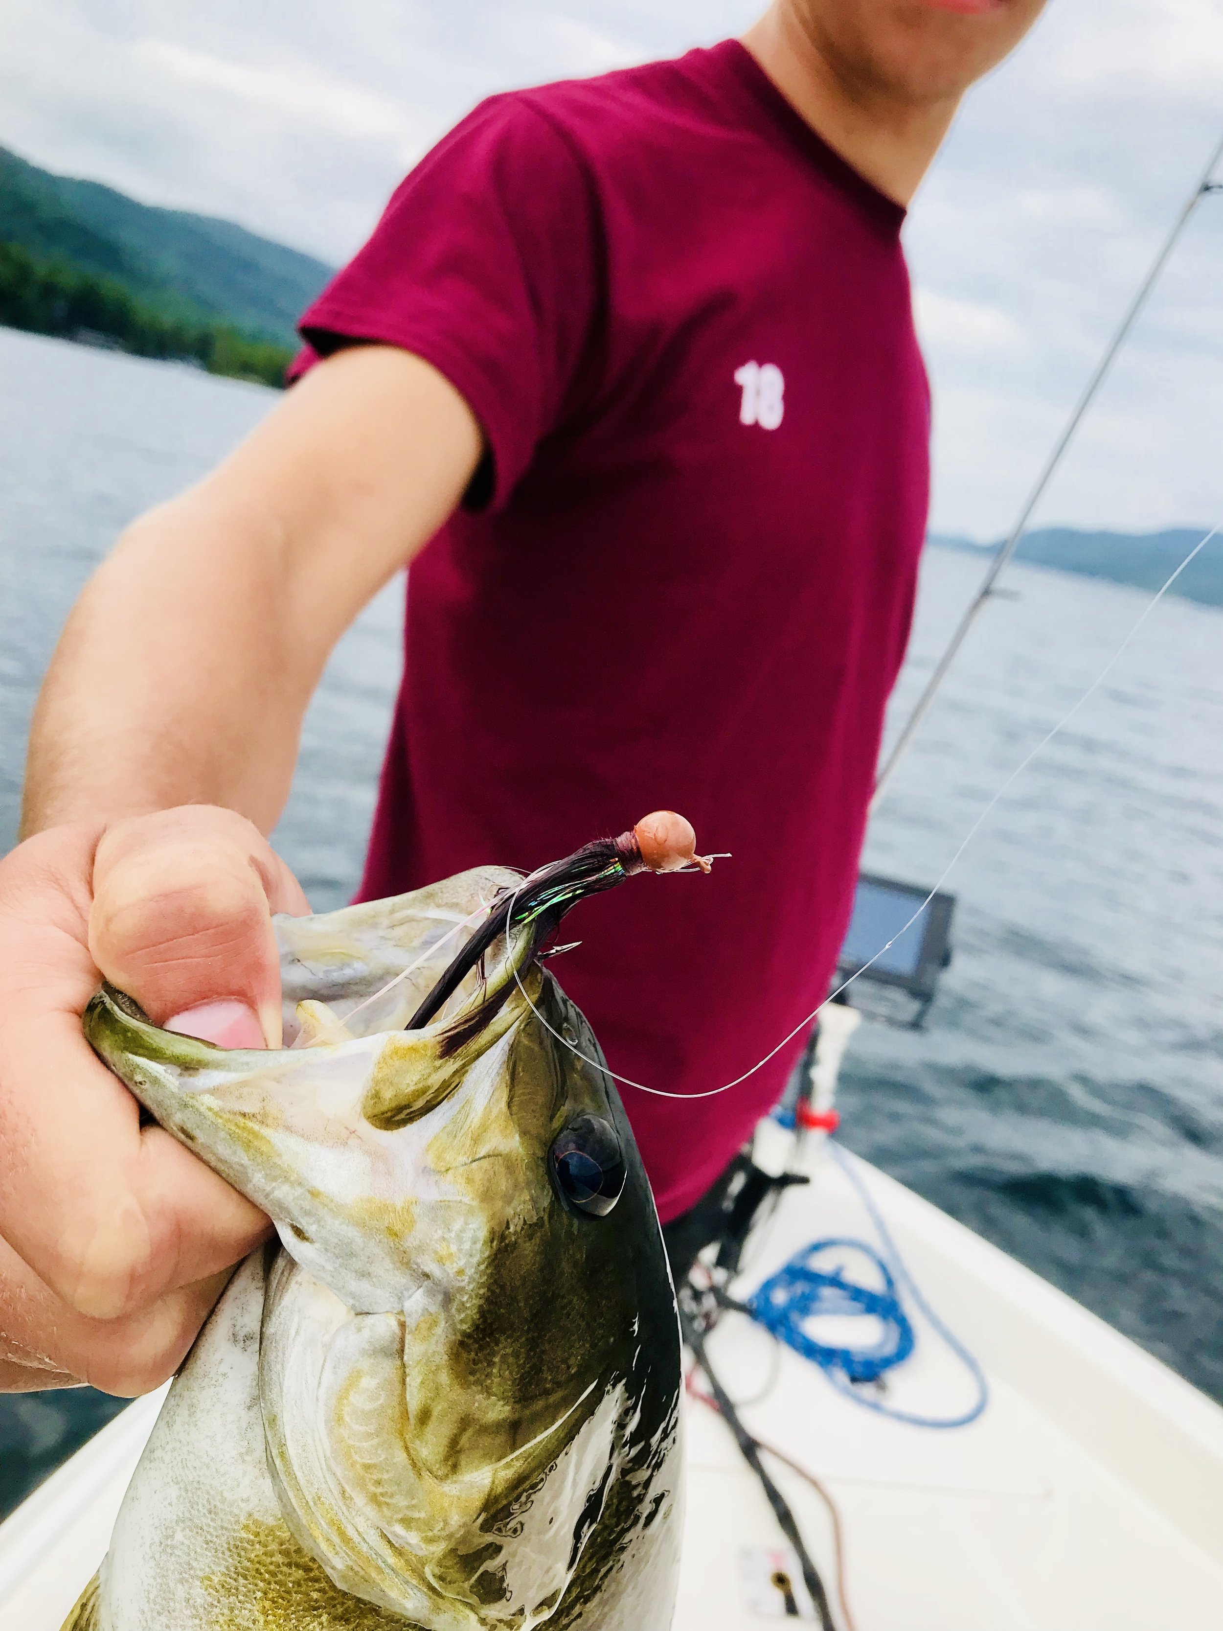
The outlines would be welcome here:
[[[545,966],[561,912],[641,869],[629,837],[276,918],[282,1049],[93,998],[95,1052],[276,1238],[174,1378],[64,1631],[667,1631],[675,1295],[615,1081]]]

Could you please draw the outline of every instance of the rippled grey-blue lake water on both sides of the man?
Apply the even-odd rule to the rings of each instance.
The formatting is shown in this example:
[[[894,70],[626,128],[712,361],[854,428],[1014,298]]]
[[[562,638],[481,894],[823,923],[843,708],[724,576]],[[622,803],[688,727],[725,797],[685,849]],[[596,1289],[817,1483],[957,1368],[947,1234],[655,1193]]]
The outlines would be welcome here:
[[[82,582],[124,522],[272,401],[0,329],[0,848],[34,693]],[[894,723],[980,571],[928,553]],[[1034,568],[1008,584],[1016,597],[987,610],[876,817],[872,871],[933,884],[1145,603]],[[341,643],[307,719],[276,842],[316,908],[359,876],[398,646],[393,586]],[[863,1026],[841,1098],[848,1145],[1220,1399],[1221,657],[1223,612],[1156,608],[952,874],[956,957],[928,1029]],[[88,1390],[0,1401],[0,1510],[116,1408]]]

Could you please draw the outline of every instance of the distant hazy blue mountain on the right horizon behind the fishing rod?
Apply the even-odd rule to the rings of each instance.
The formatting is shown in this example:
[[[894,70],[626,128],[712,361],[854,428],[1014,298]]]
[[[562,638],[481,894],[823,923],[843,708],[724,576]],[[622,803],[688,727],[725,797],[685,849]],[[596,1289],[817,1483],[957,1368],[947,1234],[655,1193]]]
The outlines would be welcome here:
[[[1171,527],[1166,532],[1080,532],[1075,527],[1044,527],[1029,532],[1016,559],[1029,566],[1052,566],[1083,577],[1106,577],[1151,594],[1161,589],[1184,561],[1205,527]],[[974,543],[970,538],[931,533],[929,541],[944,550],[965,550],[982,558],[1001,543]],[[1202,605],[1223,607],[1223,535],[1215,537],[1168,590]]]

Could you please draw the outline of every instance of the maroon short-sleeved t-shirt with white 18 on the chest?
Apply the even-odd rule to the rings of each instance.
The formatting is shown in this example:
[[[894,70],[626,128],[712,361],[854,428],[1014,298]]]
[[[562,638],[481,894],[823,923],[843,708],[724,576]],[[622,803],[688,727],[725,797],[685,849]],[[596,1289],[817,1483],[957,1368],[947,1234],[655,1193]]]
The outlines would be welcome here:
[[[734,858],[584,905],[556,966],[670,1093],[809,1013],[848,922],[926,519],[902,219],[726,42],[484,103],[302,323],[426,357],[489,450],[411,568],[362,899],[682,811]],[[623,1090],[664,1218],[801,1044]]]

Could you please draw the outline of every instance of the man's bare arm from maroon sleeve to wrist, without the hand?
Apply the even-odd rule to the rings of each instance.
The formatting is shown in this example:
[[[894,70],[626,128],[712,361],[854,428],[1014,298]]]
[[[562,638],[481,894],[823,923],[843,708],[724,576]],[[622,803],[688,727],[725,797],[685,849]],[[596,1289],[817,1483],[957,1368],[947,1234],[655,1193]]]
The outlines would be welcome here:
[[[23,832],[188,802],[271,830],[331,648],[479,450],[463,398],[408,352],[313,369],[85,589],[34,714]]]

